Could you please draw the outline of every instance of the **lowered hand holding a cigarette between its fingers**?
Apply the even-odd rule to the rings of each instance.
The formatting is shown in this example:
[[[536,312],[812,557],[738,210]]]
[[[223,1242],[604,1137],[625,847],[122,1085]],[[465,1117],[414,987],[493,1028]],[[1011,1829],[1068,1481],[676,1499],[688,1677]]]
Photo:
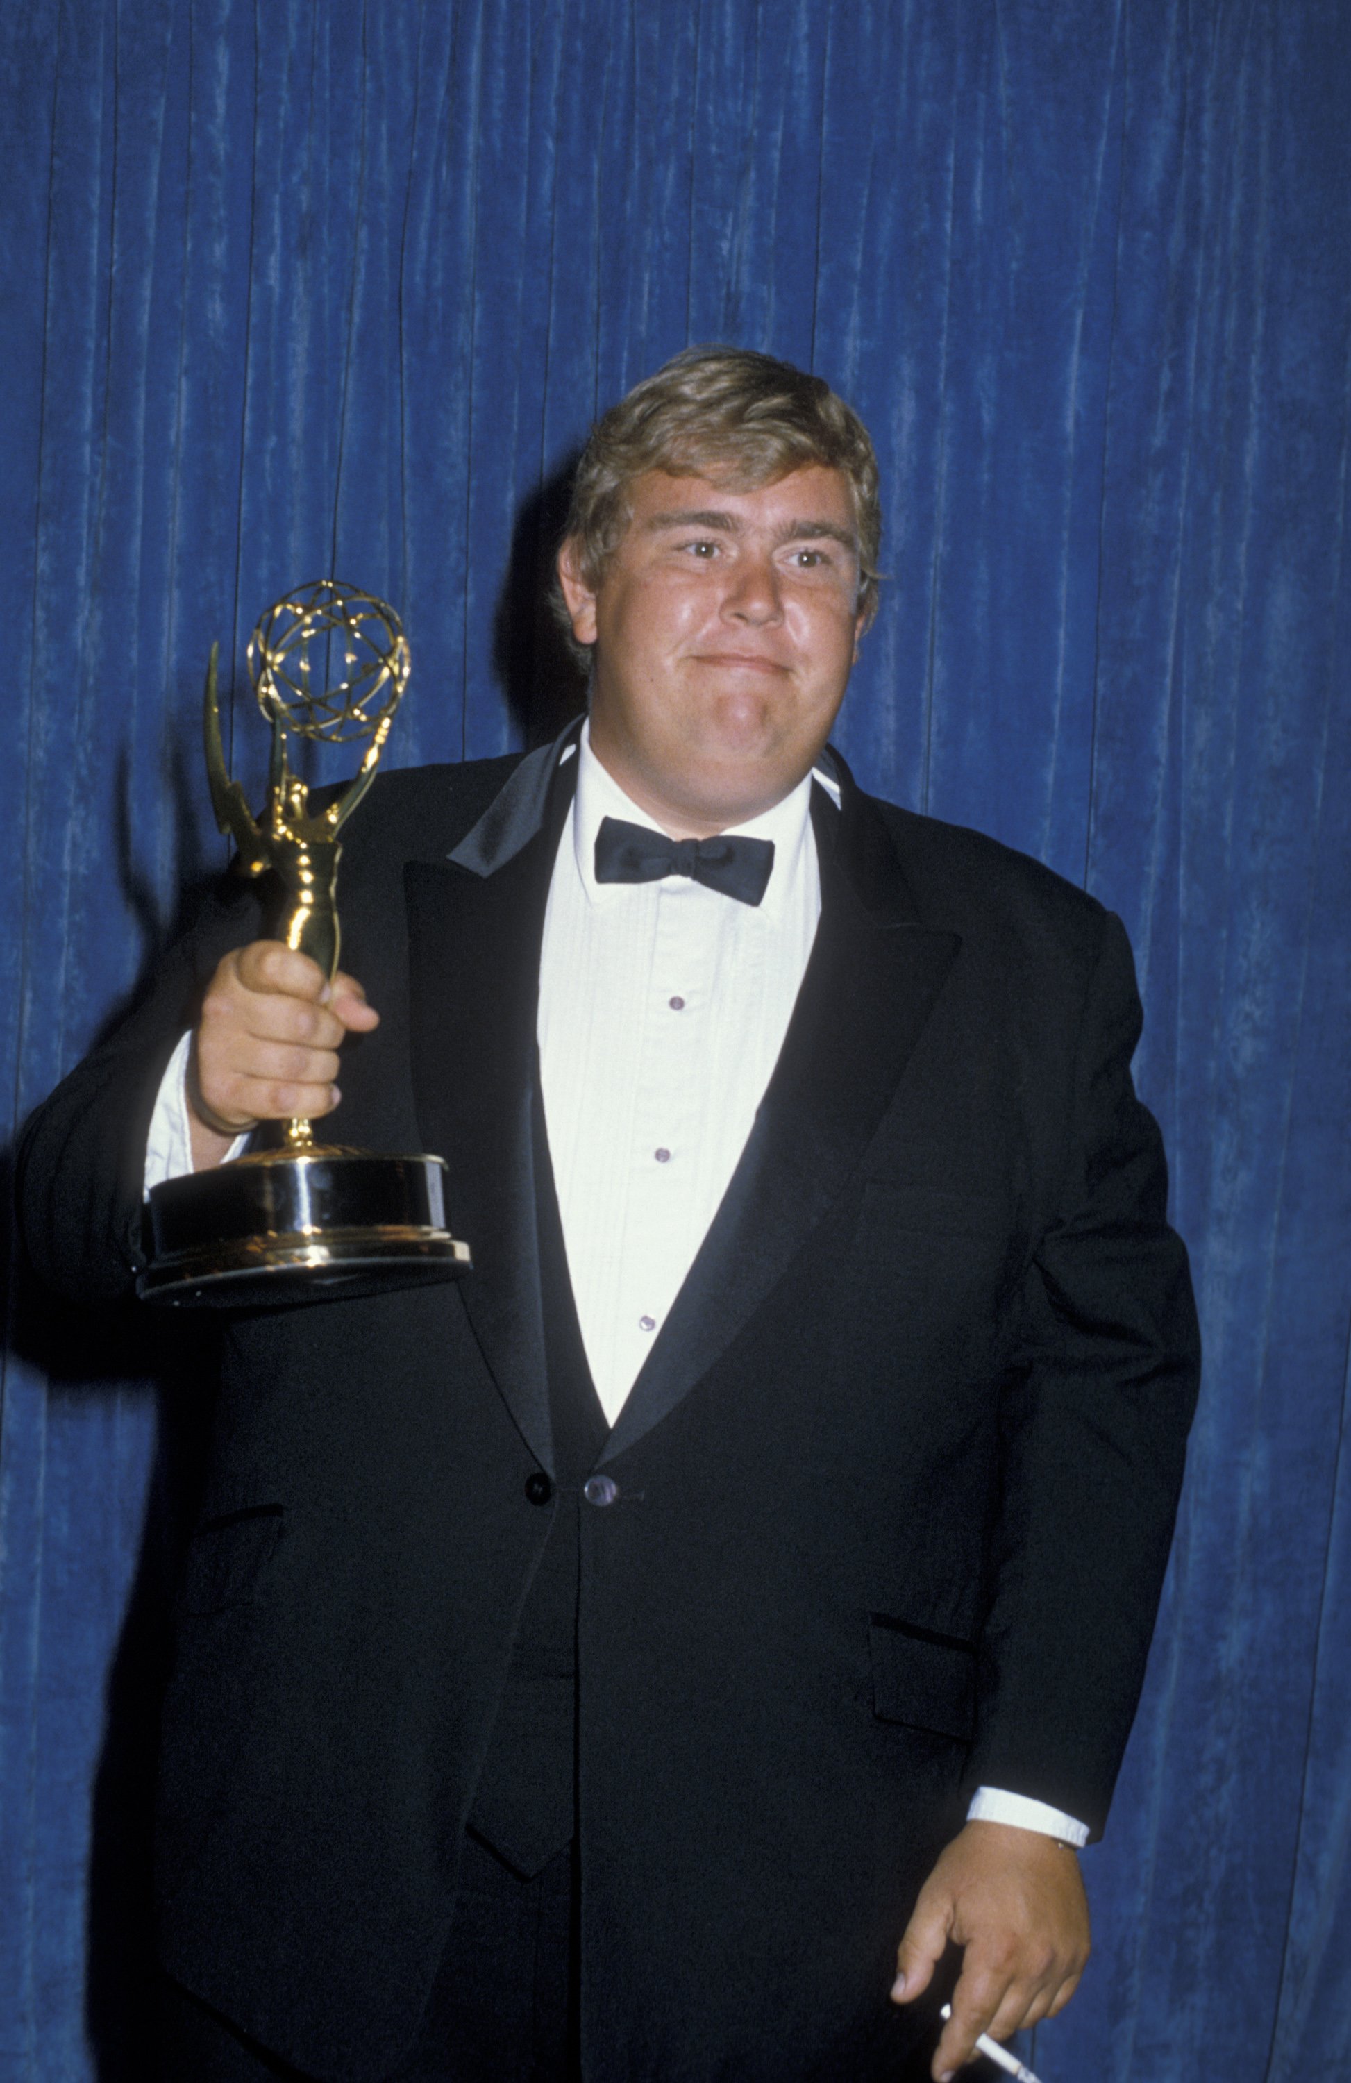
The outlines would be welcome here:
[[[968,1823],[933,1868],[897,1952],[893,2002],[933,1981],[947,1941],[962,1946],[933,2075],[968,2062],[976,2037],[1010,2039],[1070,2002],[1089,1958],[1089,1902],[1078,1858],[1041,1831]]]

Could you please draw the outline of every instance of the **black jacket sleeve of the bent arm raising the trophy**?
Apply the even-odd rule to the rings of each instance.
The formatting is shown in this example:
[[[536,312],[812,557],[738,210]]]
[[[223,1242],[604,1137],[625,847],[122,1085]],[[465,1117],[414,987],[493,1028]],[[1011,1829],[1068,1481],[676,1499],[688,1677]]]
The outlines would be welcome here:
[[[29,1116],[17,1154],[19,1233],[56,1294],[117,1302],[146,1264],[142,1189],[154,1096],[223,954],[262,929],[258,889],[227,877],[114,1031]]]

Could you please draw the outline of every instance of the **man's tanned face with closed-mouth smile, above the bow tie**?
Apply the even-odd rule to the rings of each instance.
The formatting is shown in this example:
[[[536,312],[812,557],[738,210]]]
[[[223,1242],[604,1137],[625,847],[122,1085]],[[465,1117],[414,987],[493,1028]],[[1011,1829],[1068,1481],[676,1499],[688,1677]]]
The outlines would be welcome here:
[[[595,646],[591,746],[672,837],[783,802],[824,746],[858,656],[858,535],[841,471],[754,492],[647,471],[595,589],[558,571]]]

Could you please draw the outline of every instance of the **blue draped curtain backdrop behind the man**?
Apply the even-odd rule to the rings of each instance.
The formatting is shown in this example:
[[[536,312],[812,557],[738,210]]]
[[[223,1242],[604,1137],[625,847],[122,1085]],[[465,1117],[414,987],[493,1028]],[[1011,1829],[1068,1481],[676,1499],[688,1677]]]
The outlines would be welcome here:
[[[1116,906],[1207,1381],[1097,1960],[1045,2083],[1351,2073],[1351,17],[1343,0],[27,0],[0,17],[0,1048],[15,1119],[221,862],[260,608],[393,600],[393,760],[575,698],[591,415],[689,340],[868,419],[841,744]],[[144,2077],[192,1389],[10,1302],[0,2075]]]

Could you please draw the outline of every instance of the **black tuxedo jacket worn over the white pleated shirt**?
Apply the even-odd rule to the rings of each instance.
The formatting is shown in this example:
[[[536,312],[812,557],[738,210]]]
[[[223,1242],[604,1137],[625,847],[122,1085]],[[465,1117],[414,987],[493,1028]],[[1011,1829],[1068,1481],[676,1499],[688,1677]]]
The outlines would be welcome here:
[[[239,1316],[179,1600],[162,1956],[306,2073],[416,2033],[558,1500],[531,1091],[556,752],[383,777],[343,858],[343,1141],[435,1150],[460,1285]],[[593,2083],[889,2071],[914,1893],[976,1783],[1101,1827],[1197,1333],[1118,921],[862,796],[749,1144],[581,1508]],[[554,787],[558,781],[554,781]],[[142,1264],[154,1089],[221,898],[21,1158],[37,1269]],[[204,1335],[206,1335],[204,1327]],[[214,1325],[210,1327],[214,1329]],[[529,1487],[527,1487],[529,1485]]]

